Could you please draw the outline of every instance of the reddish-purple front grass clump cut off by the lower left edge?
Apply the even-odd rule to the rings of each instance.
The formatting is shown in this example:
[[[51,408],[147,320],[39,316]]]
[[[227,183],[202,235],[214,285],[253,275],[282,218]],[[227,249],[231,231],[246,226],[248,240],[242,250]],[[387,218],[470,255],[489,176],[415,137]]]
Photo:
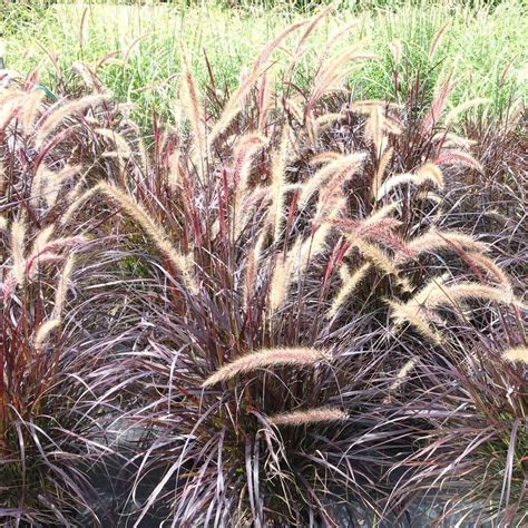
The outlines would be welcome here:
[[[65,365],[75,353],[63,338],[65,304],[82,241],[56,238],[31,252],[39,235],[23,221],[0,236],[11,245],[1,265],[0,517],[8,526],[69,522],[95,497],[79,471],[91,457],[91,418],[77,410],[82,388]]]

